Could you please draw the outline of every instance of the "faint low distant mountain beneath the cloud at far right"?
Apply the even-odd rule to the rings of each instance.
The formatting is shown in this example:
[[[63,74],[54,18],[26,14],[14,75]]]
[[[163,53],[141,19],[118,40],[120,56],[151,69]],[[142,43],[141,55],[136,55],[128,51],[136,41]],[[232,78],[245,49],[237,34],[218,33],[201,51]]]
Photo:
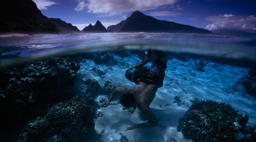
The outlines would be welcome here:
[[[223,34],[223,35],[256,35],[256,33],[250,33],[245,31],[237,31],[237,30],[227,30],[227,29],[218,29],[212,30],[214,34]]]

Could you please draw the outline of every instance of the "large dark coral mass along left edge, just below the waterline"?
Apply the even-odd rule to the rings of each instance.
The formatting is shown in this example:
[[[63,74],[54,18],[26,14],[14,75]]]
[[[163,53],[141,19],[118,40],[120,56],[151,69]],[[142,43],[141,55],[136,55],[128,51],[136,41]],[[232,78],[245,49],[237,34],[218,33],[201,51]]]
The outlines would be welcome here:
[[[69,57],[52,57],[0,69],[0,110],[5,114],[1,117],[4,133],[11,132],[21,121],[41,115],[47,104],[73,97],[74,93],[68,91],[79,69],[79,64]]]

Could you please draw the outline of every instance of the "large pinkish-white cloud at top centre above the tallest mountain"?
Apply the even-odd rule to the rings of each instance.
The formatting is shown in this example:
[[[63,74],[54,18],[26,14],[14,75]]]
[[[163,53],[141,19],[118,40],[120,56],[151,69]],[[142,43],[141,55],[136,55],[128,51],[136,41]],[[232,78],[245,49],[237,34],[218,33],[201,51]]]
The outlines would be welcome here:
[[[88,0],[88,12],[113,16],[123,12],[146,11],[159,6],[172,5],[177,0]]]

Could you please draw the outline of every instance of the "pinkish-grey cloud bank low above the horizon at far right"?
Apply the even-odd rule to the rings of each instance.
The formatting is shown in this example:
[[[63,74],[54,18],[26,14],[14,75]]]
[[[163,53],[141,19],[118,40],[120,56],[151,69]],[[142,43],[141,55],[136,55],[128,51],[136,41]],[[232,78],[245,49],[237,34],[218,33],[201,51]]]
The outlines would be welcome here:
[[[207,21],[213,22],[206,26],[208,30],[228,29],[239,31],[256,31],[256,17],[251,16],[235,16],[233,14],[225,14],[218,16],[208,16]]]

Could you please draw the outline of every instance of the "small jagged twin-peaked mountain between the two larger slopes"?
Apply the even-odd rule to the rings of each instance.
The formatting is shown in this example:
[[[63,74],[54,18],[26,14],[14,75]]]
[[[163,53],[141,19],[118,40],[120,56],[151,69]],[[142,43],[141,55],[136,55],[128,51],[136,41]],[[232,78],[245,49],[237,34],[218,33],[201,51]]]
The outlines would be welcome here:
[[[82,32],[85,33],[108,33],[108,32],[112,32],[112,31],[108,31],[105,26],[103,26],[99,20],[97,20],[97,22],[95,23],[94,26],[92,26],[92,24],[90,24],[89,26],[85,26],[84,29],[82,30]]]

